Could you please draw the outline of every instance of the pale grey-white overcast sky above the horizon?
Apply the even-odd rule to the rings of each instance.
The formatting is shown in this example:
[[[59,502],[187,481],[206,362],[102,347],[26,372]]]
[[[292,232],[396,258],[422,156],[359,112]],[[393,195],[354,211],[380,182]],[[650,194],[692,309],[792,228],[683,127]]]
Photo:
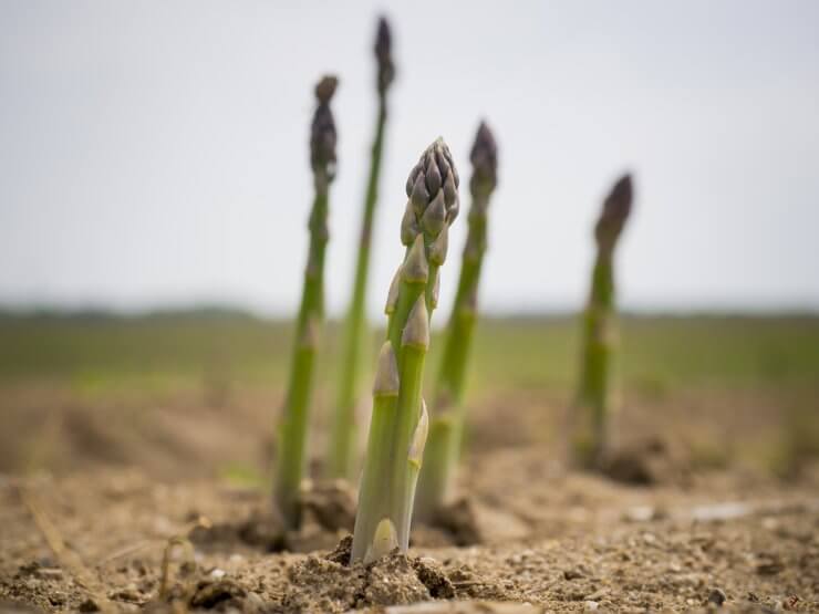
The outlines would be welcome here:
[[[591,223],[625,169],[636,201],[618,257],[623,305],[819,309],[811,0],[0,0],[0,303],[207,301],[291,314],[308,241],[312,87],[331,72],[340,148],[326,295],[340,314],[381,13],[397,82],[372,314],[402,256],[407,173],[443,135],[468,178],[481,117],[500,158],[486,310],[582,303]],[[467,189],[462,200],[466,211]]]

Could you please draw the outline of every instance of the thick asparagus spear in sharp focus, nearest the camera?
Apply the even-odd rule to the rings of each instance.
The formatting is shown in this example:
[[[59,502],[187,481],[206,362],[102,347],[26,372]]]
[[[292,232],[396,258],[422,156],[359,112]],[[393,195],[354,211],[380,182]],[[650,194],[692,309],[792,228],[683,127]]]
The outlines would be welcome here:
[[[406,184],[401,222],[404,262],[390,287],[386,341],[373,385],[364,472],[359,491],[352,559],[371,561],[409,543],[415,485],[427,431],[421,398],[429,346],[429,316],[437,304],[438,269],[449,225],[458,214],[458,174],[438,138],[421,156]]]

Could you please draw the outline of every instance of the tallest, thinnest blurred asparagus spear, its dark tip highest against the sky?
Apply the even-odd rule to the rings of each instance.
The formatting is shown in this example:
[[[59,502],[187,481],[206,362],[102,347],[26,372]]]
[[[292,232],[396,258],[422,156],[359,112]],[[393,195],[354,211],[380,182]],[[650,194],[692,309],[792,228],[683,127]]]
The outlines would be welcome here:
[[[390,24],[384,18],[379,21],[375,37],[375,58],[379,63],[377,91],[379,113],[375,123],[370,159],[370,178],[367,179],[364,215],[361,223],[359,257],[355,264],[353,296],[346,315],[344,329],[343,362],[339,382],[339,398],[335,404],[335,418],[330,436],[330,451],[326,460],[326,472],[331,478],[348,478],[352,473],[354,461],[356,425],[355,403],[359,398],[362,348],[366,346],[366,319],[364,306],[366,299],[366,280],[370,269],[370,243],[372,237],[375,204],[377,201],[381,157],[384,146],[384,124],[386,122],[386,92],[395,76],[391,52]]]

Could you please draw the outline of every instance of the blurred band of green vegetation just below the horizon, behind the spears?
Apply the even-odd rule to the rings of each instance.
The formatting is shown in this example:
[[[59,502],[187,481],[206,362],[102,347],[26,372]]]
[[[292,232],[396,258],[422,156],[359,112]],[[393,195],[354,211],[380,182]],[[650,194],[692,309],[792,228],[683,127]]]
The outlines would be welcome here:
[[[819,381],[816,316],[625,316],[618,370],[646,397],[682,387],[812,387]],[[469,395],[506,389],[568,393],[578,366],[574,318],[479,323]],[[283,387],[290,325],[236,312],[111,318],[0,316],[0,384],[52,382],[83,394],[231,386]],[[382,333],[373,334],[376,347]],[[338,326],[325,334],[320,382],[332,383]],[[433,340],[431,370],[437,368]],[[374,355],[374,353],[372,354]],[[427,377],[432,381],[433,377]]]

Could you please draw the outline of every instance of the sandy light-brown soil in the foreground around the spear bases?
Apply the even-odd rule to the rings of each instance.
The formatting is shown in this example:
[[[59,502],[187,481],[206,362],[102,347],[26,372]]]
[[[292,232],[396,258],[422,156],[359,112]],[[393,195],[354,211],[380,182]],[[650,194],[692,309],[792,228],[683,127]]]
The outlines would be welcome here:
[[[491,489],[473,475],[469,531],[418,528],[409,558],[367,566],[345,564],[342,527],[291,537],[302,553],[237,539],[237,519],[265,508],[253,490],[2,478],[0,612],[819,611],[815,477],[633,488],[553,470]]]

